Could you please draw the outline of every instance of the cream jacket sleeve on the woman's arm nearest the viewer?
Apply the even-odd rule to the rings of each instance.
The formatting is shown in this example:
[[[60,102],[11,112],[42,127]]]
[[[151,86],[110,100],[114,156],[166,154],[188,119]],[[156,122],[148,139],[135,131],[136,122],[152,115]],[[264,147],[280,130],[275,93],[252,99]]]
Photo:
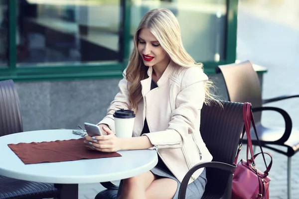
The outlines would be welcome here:
[[[188,134],[199,132],[200,110],[205,100],[204,89],[207,80],[208,77],[200,67],[186,69],[168,128],[144,134],[149,137],[152,145],[158,149],[180,148]]]

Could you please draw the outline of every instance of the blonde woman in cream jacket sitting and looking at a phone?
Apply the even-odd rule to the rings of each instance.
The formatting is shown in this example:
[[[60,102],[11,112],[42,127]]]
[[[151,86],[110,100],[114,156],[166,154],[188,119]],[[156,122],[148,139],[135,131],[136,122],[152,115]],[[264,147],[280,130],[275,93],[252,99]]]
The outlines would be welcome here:
[[[156,149],[157,166],[124,179],[119,199],[176,199],[188,170],[212,160],[199,132],[200,109],[212,98],[210,84],[202,64],[183,48],[178,21],[168,9],[145,14],[134,44],[120,92],[98,124],[107,135],[86,136],[84,142],[104,152]],[[113,113],[120,108],[136,113],[132,138],[114,135]],[[205,169],[200,169],[189,180],[186,198],[201,198],[205,185]]]

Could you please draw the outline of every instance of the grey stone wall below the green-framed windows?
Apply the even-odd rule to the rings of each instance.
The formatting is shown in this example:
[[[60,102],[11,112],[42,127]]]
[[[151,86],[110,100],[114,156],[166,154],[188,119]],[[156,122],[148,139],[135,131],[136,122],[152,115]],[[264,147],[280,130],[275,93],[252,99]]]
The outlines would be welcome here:
[[[226,100],[222,76],[209,78],[215,82],[218,96]],[[78,125],[83,128],[84,122],[97,123],[117,94],[119,80],[15,83],[24,131],[77,129]]]

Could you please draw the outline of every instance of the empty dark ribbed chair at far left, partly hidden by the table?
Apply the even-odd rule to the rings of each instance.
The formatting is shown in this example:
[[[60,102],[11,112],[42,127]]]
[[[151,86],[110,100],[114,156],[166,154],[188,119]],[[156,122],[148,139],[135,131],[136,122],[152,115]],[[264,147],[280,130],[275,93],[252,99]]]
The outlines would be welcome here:
[[[22,131],[20,104],[13,81],[1,81],[0,136]],[[58,189],[49,183],[29,182],[0,176],[0,199],[44,198],[59,198]]]

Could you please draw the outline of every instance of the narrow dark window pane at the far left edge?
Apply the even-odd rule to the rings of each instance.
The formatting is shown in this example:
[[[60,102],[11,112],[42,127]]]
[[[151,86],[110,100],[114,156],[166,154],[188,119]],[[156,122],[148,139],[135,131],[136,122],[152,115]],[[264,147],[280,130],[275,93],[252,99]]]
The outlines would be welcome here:
[[[0,0],[0,67],[8,60],[8,0]]]

